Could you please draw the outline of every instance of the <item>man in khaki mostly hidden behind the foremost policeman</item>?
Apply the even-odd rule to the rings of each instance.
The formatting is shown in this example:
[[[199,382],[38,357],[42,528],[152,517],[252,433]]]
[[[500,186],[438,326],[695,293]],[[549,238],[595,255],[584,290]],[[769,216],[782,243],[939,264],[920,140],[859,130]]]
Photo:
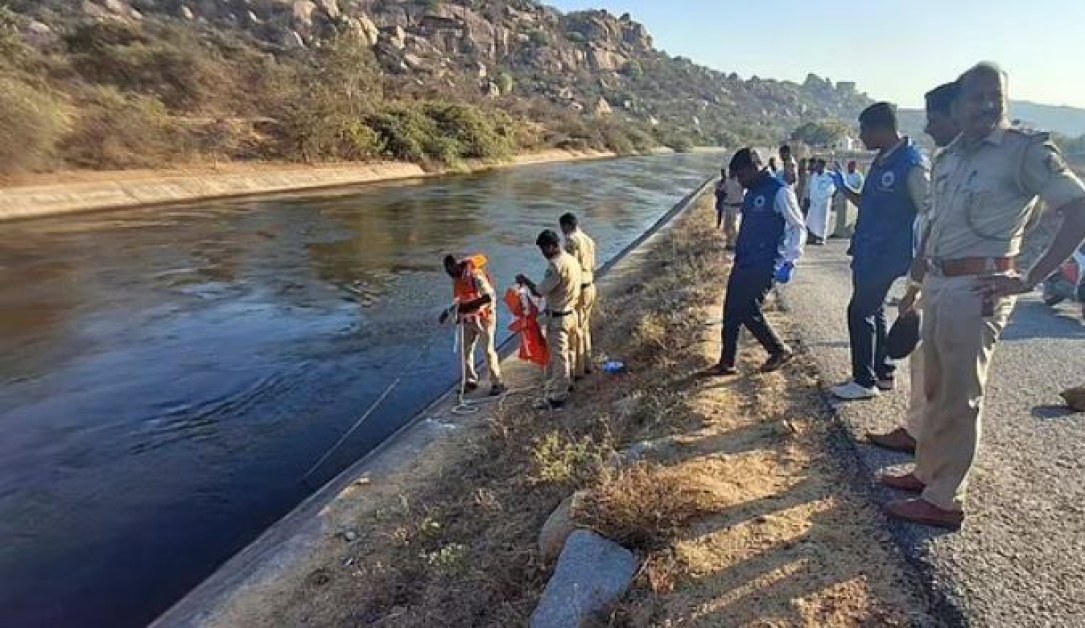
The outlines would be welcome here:
[[[957,137],[960,129],[953,119],[953,103],[957,99],[958,85],[956,81],[947,82],[927,92],[927,134],[934,140],[936,150],[944,149]],[[937,153],[935,153],[937,155]],[[851,187],[851,185],[850,185]],[[854,190],[854,188],[853,188]],[[916,219],[917,246],[919,235],[927,228],[930,220],[930,203],[924,204],[923,213]],[[910,309],[921,309],[919,304],[919,283],[909,278],[908,290],[901,299],[901,311]],[[915,453],[916,435],[922,430],[923,416],[927,414],[927,392],[923,389],[923,380],[927,369],[923,364],[922,344],[908,358],[911,377],[911,395],[908,397],[908,414],[904,427],[897,427],[886,434],[867,434],[867,440],[871,445],[889,449],[891,451],[903,451]]]

